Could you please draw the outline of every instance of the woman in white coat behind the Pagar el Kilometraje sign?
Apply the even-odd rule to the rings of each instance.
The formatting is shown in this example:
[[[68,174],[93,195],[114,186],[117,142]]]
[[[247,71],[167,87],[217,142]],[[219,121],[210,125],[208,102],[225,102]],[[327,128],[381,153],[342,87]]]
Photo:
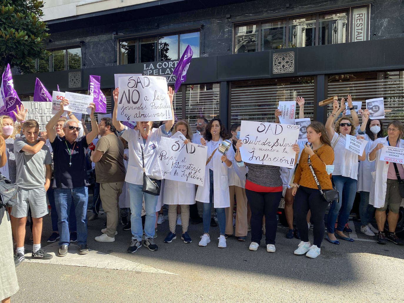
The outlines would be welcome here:
[[[175,124],[173,133],[175,134],[178,131],[186,138],[184,144],[192,141],[192,130],[187,121],[179,120]],[[188,234],[189,205],[195,204],[195,185],[192,183],[166,179],[164,183],[163,204],[168,204],[168,226],[170,227],[170,232],[164,239],[164,243],[171,243],[173,240],[177,239],[177,236],[175,235],[175,227],[177,223],[178,205],[181,205],[181,240],[183,240],[184,243],[191,243],[192,240]]]

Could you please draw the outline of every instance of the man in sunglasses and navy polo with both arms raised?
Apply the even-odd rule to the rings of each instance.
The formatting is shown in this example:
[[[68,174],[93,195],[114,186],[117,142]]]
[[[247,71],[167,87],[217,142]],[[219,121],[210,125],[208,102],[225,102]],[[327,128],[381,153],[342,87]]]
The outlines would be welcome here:
[[[80,126],[76,120],[70,119],[63,124],[64,136],[56,134],[53,126],[57,123],[60,116],[63,115],[64,106],[69,101],[63,99],[60,103],[60,110],[46,124],[48,138],[53,148],[53,185],[55,188],[55,206],[58,213],[58,228],[60,234],[59,257],[67,255],[67,247],[70,243],[69,225],[67,214],[70,207],[76,211],[77,225],[77,244],[80,255],[88,253],[87,248],[87,158],[84,149],[98,135],[98,125],[94,117],[95,104],[90,103],[91,108],[91,132],[78,138]]]

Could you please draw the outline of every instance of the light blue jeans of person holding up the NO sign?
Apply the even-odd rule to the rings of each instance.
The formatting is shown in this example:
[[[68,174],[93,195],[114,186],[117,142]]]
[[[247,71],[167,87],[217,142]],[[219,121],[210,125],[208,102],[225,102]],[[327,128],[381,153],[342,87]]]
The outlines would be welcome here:
[[[154,238],[156,226],[156,207],[158,196],[146,194],[142,191],[143,185],[128,183],[130,192],[130,225],[133,240],[142,240],[142,202],[145,196],[145,238]]]

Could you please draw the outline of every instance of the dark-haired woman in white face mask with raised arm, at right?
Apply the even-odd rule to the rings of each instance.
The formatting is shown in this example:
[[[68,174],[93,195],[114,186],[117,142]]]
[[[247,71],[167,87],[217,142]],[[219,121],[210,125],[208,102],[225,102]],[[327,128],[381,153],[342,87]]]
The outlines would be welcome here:
[[[366,116],[363,116],[362,114],[362,121],[365,121],[364,119],[366,119]],[[370,152],[372,143],[376,139],[384,137],[384,130],[382,120],[366,120],[367,123],[365,131],[362,131],[362,124],[361,131],[358,131],[358,133],[364,133],[363,135],[365,137],[365,140],[368,141],[365,147],[365,153],[367,155]],[[372,181],[369,179],[369,176],[374,171],[375,162],[370,162],[367,157],[365,161],[361,161],[359,163],[358,187],[356,191],[360,193],[359,215],[360,221],[362,222],[360,231],[366,236],[376,236],[376,234],[378,233],[377,228],[373,227],[372,223],[370,223],[370,219],[373,218],[373,214],[375,213],[375,208],[373,207],[373,205],[369,204],[369,195],[372,188]]]

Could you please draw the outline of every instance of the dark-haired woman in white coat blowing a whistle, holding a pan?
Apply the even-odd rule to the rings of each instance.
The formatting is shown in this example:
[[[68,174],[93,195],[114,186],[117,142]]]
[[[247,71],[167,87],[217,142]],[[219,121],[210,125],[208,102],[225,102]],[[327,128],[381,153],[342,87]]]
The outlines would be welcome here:
[[[208,147],[208,154],[206,156],[204,185],[198,186],[198,191],[196,192],[196,200],[203,203],[204,234],[201,236],[199,246],[206,246],[210,242],[210,209],[213,203],[217,211],[217,221],[220,229],[218,247],[226,247],[225,208],[230,206],[227,167],[233,166],[233,162],[229,159],[234,159],[234,151],[230,148],[226,155],[222,155],[217,149],[219,149],[223,139],[227,137],[227,131],[221,120],[219,118],[213,118],[210,120],[208,126],[206,126],[204,138],[201,138],[202,145]]]

